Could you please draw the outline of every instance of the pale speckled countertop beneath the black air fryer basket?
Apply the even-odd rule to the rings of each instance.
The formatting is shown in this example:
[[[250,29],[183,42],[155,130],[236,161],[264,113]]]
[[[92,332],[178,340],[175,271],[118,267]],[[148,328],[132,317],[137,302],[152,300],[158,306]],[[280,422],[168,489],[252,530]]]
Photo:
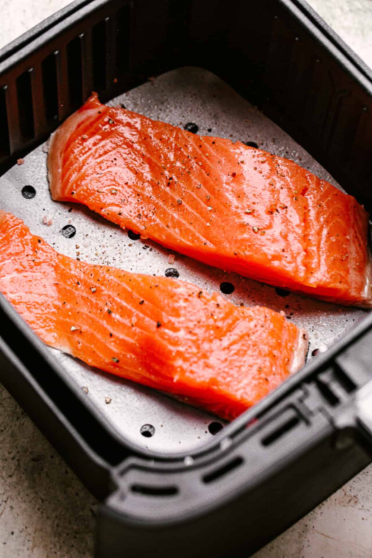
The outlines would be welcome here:
[[[0,0],[0,47],[66,0]],[[372,66],[372,0],[310,0]],[[93,556],[96,501],[0,386],[0,558]],[[372,556],[372,466],[255,558]]]

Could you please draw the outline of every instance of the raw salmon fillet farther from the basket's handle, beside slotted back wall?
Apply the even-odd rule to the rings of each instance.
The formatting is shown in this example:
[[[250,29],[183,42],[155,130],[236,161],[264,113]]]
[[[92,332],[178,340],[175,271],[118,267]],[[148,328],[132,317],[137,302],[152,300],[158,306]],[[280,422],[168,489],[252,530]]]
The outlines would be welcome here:
[[[211,266],[371,306],[368,214],[293,161],[101,104],[52,135],[52,198]]]

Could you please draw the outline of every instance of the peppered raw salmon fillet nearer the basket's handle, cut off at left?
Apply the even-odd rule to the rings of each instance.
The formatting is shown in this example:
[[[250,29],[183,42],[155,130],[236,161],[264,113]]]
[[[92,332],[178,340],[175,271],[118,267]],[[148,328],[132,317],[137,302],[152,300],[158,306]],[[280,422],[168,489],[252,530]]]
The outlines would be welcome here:
[[[62,256],[0,211],[0,292],[51,347],[234,419],[302,367],[305,330],[167,277]]]

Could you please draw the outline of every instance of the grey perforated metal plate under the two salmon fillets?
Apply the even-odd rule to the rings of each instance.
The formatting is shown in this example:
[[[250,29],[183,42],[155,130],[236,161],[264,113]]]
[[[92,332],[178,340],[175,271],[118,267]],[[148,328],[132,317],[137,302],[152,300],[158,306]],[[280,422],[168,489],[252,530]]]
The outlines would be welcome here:
[[[173,70],[120,95],[109,104],[118,103],[176,126],[195,123],[201,135],[253,141],[258,147],[293,159],[340,187],[276,124],[208,71],[198,68]],[[35,197],[23,197],[25,185],[35,188]],[[244,302],[245,305],[259,304],[283,310],[288,319],[305,327],[310,338],[308,358],[313,358],[315,349],[326,349],[365,316],[362,310],[298,295],[281,296],[273,287],[210,268],[180,254],[175,254],[176,260],[170,265],[170,251],[158,244],[150,240],[131,240],[127,232],[81,205],[52,201],[46,176],[45,146],[27,155],[23,165],[16,165],[1,177],[0,207],[23,219],[32,233],[43,237],[57,251],[73,258],[78,251],[80,259],[86,262],[156,275],[164,275],[167,268],[175,267],[182,280],[209,291],[219,291],[221,282],[230,282],[235,290],[224,295],[229,300],[236,304]],[[49,227],[43,223],[44,217],[52,220]],[[61,234],[66,225],[73,225],[76,229],[71,238]],[[211,425],[220,422],[215,417],[152,389],[97,371],[57,350],[50,350],[62,363],[66,374],[70,374],[80,388],[88,388],[86,397],[114,429],[142,448],[167,453],[191,451],[205,444],[218,430],[218,425]]]

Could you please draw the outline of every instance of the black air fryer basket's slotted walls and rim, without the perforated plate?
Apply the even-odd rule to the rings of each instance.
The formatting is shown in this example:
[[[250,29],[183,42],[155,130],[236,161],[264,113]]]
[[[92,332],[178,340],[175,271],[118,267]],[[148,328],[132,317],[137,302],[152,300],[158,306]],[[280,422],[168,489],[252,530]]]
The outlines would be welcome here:
[[[92,90],[105,102],[182,66],[371,205],[372,75],[301,0],[76,0],[0,52],[2,174]],[[201,449],[169,454],[119,435],[2,297],[0,312],[2,383],[103,502],[96,556],[248,556],[371,461],[368,313]]]

